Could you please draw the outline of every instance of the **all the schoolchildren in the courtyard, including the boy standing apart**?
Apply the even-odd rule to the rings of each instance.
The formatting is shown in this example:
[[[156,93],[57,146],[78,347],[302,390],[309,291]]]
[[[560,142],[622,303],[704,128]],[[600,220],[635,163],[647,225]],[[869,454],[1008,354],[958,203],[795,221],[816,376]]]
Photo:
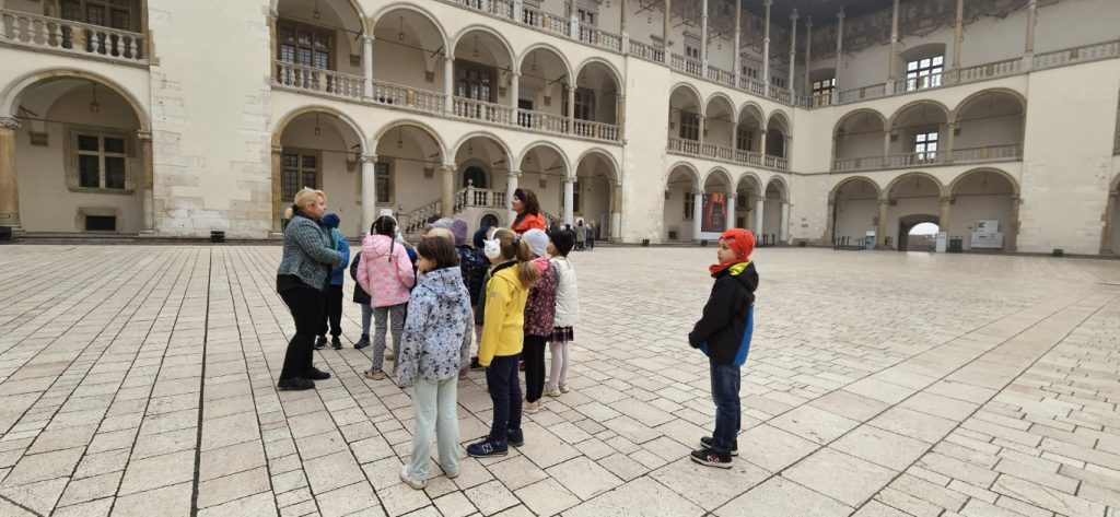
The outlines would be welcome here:
[[[393,375],[401,387],[414,386],[412,457],[401,479],[416,489],[427,486],[433,434],[440,468],[449,478],[459,473],[456,380],[468,369],[473,333],[478,344],[475,361],[486,370],[494,411],[489,433],[467,446],[469,455],[505,455],[510,445],[523,445],[522,413],[541,411],[543,395],[569,392],[567,370],[579,300],[568,254],[577,235],[568,229],[517,234],[488,228],[476,234],[470,247],[466,232],[463,219],[441,219],[426,229],[413,251],[401,238],[396,222],[383,216],[351,265],[358,283],[354,301],[363,306],[363,333],[355,348],[371,344],[371,314],[375,321],[373,365],[365,376],[385,378],[385,333],[391,322],[396,347]],[[345,237],[336,242],[344,243]],[[754,235],[745,229],[720,236],[718,263],[710,267],[716,279],[711,297],[689,333],[690,346],[708,356],[717,410],[713,435],[700,439],[691,459],[711,467],[729,468],[738,453],[740,367],[750,346],[758,284],[749,260],[754,244]],[[339,273],[340,269],[333,274]],[[339,286],[339,298],[340,291]],[[332,302],[327,303],[329,308]],[[337,328],[335,320],[332,323]],[[333,336],[337,340],[337,333]],[[325,336],[319,339],[325,345]],[[552,351],[547,386],[545,344]],[[522,360],[524,397],[519,378]]]

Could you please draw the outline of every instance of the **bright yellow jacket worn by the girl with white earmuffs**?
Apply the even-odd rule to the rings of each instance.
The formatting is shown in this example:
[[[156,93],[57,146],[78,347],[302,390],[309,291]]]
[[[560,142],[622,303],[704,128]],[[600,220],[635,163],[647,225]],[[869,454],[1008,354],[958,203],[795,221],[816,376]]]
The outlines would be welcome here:
[[[494,356],[521,354],[528,299],[529,290],[517,280],[515,262],[498,264],[491,270],[478,364],[489,366]]]

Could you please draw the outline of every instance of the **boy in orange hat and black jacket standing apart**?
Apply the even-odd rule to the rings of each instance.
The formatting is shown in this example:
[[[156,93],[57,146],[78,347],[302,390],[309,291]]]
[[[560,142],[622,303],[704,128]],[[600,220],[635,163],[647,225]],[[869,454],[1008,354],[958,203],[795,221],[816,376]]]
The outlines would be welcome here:
[[[741,423],[739,407],[739,367],[747,360],[754,331],[755,289],[758,273],[750,262],[755,236],[732,228],[719,236],[718,263],[709,267],[716,284],[711,288],[703,317],[689,332],[689,345],[708,356],[711,367],[711,397],[716,403],[716,431],[700,439],[692,461],[709,467],[731,468],[738,455]]]

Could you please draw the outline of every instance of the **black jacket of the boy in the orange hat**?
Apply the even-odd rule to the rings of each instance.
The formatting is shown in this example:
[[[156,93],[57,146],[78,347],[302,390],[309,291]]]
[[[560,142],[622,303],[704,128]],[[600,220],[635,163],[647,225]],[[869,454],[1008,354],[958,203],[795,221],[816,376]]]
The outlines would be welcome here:
[[[758,272],[753,262],[739,274],[731,274],[730,270],[720,272],[711,286],[703,317],[689,332],[689,345],[698,348],[708,344],[708,357],[716,364],[732,364],[747,333],[755,289],[758,289]]]

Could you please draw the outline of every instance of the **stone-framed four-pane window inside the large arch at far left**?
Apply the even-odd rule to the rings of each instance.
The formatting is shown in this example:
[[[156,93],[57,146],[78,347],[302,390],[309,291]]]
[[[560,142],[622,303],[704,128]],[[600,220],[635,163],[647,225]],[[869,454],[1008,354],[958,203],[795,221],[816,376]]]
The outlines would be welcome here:
[[[112,194],[121,196],[131,196],[136,194],[137,190],[137,163],[136,163],[136,134],[130,134],[123,131],[112,131],[102,128],[88,128],[73,125],[67,129],[66,145],[64,152],[66,153],[66,188],[72,192],[85,192],[85,194]],[[97,151],[83,151],[78,148],[80,137],[96,137],[97,138]],[[105,151],[105,139],[120,139],[124,143],[124,152],[108,152]],[[82,186],[82,156],[96,156],[97,157],[97,186],[96,187],[83,187]],[[105,169],[105,158],[121,158],[124,160],[124,182],[121,188],[106,187],[108,185],[108,171]]]

